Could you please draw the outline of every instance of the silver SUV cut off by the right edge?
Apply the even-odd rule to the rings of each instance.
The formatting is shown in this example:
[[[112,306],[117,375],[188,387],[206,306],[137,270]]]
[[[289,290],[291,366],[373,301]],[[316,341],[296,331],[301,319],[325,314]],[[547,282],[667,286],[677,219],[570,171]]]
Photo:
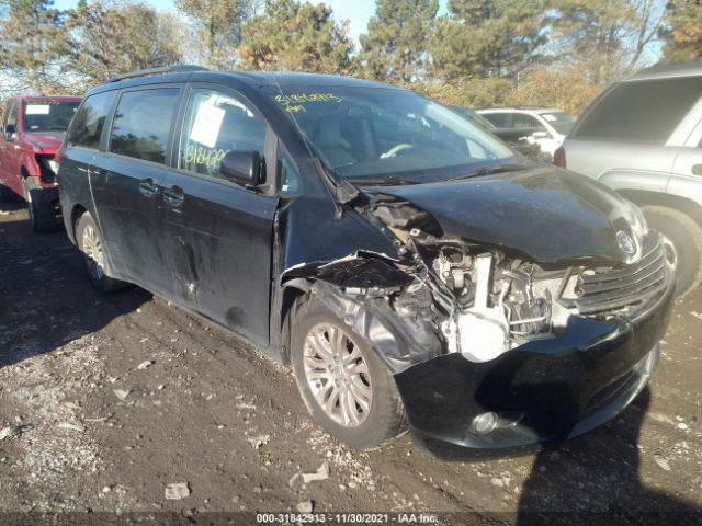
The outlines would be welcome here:
[[[655,66],[609,87],[555,162],[642,207],[666,236],[678,294],[702,282],[702,61]]]

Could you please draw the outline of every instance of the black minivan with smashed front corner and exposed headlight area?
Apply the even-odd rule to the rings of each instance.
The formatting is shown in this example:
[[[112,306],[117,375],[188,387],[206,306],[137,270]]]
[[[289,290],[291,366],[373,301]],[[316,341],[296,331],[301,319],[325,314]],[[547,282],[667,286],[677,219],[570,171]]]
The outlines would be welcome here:
[[[339,76],[121,77],[60,151],[66,230],[133,283],[290,363],[370,449],[561,441],[646,385],[672,300],[639,210],[451,110]]]

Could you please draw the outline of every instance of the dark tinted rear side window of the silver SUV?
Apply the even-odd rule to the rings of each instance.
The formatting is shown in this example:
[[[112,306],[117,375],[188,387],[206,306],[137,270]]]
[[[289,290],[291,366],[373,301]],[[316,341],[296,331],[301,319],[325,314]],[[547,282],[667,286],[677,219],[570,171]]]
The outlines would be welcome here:
[[[623,82],[584,116],[573,137],[663,145],[702,96],[702,77]]]

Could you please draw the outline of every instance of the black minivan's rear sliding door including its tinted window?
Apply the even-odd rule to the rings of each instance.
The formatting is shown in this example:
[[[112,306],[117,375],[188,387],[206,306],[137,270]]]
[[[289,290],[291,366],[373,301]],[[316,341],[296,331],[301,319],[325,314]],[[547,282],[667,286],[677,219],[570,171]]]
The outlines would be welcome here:
[[[161,250],[161,191],[181,85],[121,92],[105,151],[91,167],[98,221],[115,277],[155,293],[168,290]]]

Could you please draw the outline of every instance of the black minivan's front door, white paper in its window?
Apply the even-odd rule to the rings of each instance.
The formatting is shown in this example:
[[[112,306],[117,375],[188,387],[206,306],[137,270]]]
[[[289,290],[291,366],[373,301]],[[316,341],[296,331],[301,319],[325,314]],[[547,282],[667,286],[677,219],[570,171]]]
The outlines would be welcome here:
[[[245,98],[212,84],[193,85],[181,128],[162,197],[172,298],[267,345],[278,198],[272,184],[245,188],[219,167],[230,150],[256,150],[273,181],[274,136]]]

